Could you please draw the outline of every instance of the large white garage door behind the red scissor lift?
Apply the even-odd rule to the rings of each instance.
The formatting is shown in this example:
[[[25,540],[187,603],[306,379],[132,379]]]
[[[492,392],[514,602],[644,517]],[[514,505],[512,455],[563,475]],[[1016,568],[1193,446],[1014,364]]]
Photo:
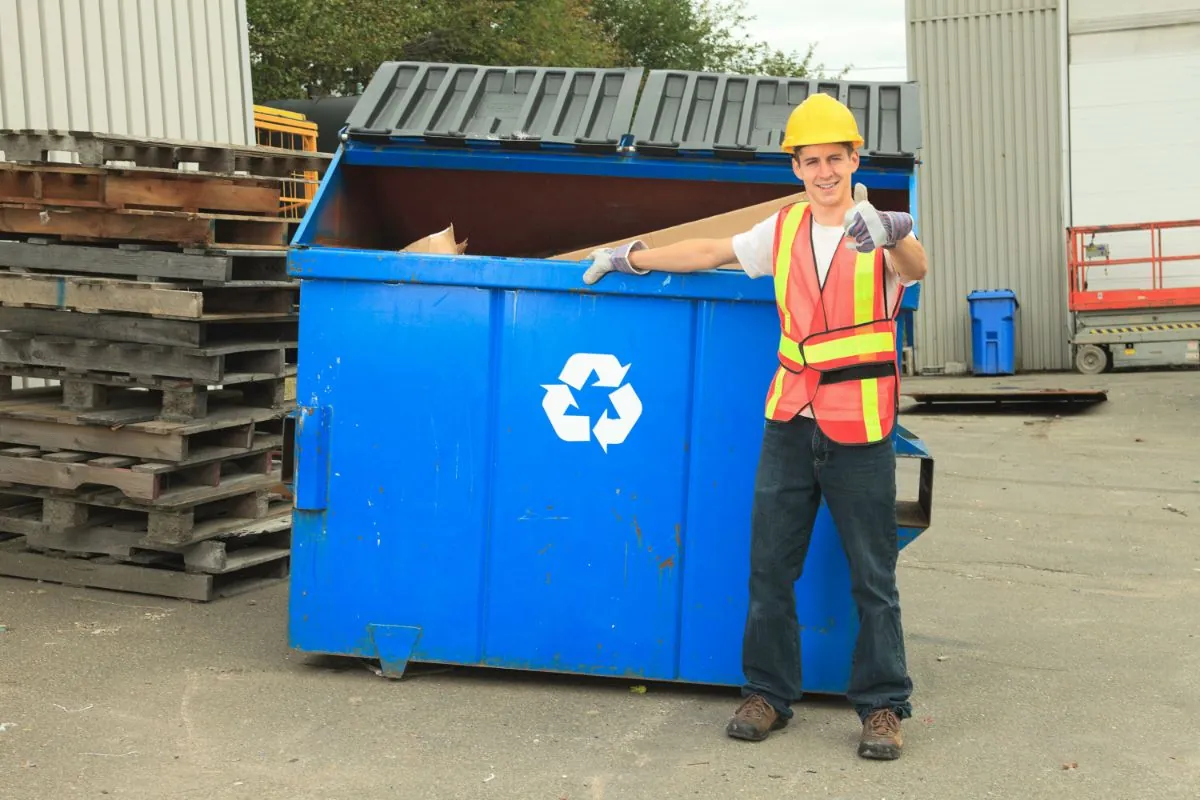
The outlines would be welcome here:
[[[1074,225],[1200,218],[1200,1],[1070,0],[1070,219]],[[1111,258],[1147,258],[1150,234],[1098,234]],[[1166,255],[1200,253],[1200,228],[1162,234]],[[1088,288],[1150,288],[1150,270],[1090,270]],[[1200,285],[1200,260],[1164,288]]]

